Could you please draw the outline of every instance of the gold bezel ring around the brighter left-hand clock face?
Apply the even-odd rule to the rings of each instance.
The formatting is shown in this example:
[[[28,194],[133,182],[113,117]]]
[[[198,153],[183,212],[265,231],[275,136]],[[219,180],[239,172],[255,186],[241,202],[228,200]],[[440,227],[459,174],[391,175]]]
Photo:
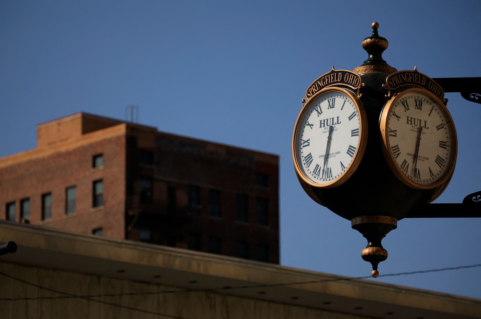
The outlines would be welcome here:
[[[346,171],[342,173],[340,177],[338,177],[333,181],[330,181],[329,183],[318,184],[313,182],[307,176],[305,176],[304,172],[299,167],[299,163],[297,161],[298,154],[296,152],[296,137],[297,137],[298,127],[299,127],[299,122],[301,121],[301,118],[303,117],[305,110],[309,108],[312,101],[314,101],[319,95],[327,92],[339,92],[339,93],[345,94],[348,98],[350,98],[353,101],[354,106],[357,110],[357,114],[359,114],[359,125],[360,125],[359,142],[357,143],[356,152],[354,154],[354,158],[351,162],[351,165],[349,165],[346,168]],[[296,123],[294,125],[294,133],[292,135],[292,158],[294,160],[295,172],[300,181],[303,181],[304,183],[311,185],[313,187],[332,188],[332,187],[339,186],[342,183],[346,182],[356,171],[357,167],[359,166],[359,163],[361,162],[361,159],[363,158],[364,151],[366,150],[366,145],[367,145],[367,115],[364,109],[364,105],[359,99],[359,97],[352,91],[342,87],[335,87],[335,86],[325,87],[320,91],[316,92],[316,94],[314,94],[311,98],[309,98],[307,103],[304,104],[301,112],[297,117]]]

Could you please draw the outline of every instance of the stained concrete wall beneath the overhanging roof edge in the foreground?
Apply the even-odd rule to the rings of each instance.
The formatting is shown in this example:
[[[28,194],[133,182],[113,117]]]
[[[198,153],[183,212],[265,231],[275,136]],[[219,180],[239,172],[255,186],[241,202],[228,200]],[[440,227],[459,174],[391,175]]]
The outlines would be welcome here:
[[[172,293],[180,289],[160,284],[135,282],[110,277],[0,262],[0,272],[75,295],[139,294],[48,299],[65,296],[18,282],[0,274],[1,319],[369,319],[356,315],[329,312],[308,307],[215,294],[208,292]],[[39,298],[6,301],[2,298]],[[42,299],[45,298],[45,299]],[[104,303],[97,302],[99,300]],[[110,304],[108,304],[110,303]],[[114,305],[130,307],[130,309]],[[134,310],[141,309],[144,312]]]

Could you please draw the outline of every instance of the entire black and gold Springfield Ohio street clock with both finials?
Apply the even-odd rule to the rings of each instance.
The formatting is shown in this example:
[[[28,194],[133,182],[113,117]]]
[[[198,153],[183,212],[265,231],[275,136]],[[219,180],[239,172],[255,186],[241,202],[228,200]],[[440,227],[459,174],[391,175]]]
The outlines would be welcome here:
[[[332,67],[307,88],[292,154],[305,192],[367,239],[361,257],[376,278],[388,257],[382,238],[449,183],[457,136],[442,87],[387,64],[388,41],[371,26],[361,66]]]

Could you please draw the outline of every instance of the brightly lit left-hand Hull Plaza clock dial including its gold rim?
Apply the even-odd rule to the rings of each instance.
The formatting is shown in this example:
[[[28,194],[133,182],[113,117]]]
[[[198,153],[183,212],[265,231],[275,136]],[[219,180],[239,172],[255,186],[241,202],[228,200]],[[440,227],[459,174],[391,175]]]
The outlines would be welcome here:
[[[292,155],[299,180],[314,187],[344,183],[367,143],[367,117],[349,89],[326,87],[303,106],[294,127]]]

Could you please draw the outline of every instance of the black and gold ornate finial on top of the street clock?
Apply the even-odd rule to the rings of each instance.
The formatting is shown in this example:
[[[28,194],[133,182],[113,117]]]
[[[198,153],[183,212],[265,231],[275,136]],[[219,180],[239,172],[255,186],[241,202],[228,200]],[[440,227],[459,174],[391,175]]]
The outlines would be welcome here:
[[[365,38],[362,41],[362,47],[367,51],[369,57],[364,63],[355,68],[356,73],[365,72],[383,72],[383,73],[394,73],[397,70],[391,67],[382,59],[382,52],[388,48],[388,40],[384,37],[380,37],[378,34],[379,23],[373,22],[371,24],[372,35]]]

